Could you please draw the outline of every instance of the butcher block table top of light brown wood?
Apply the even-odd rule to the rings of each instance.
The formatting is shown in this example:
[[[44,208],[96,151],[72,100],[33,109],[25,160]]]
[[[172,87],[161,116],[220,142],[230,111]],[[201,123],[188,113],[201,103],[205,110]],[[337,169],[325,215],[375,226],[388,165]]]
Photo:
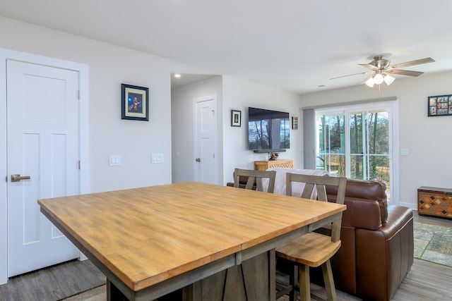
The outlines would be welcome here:
[[[340,204],[198,182],[38,204],[133,291],[345,210]]]

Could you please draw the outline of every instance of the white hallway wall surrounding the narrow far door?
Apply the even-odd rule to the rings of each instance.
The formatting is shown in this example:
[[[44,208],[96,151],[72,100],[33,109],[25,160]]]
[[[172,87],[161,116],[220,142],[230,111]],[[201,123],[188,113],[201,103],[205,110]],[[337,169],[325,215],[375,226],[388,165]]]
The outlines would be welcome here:
[[[175,88],[171,91],[172,103],[172,182],[195,179],[194,99],[217,95],[218,101],[218,161],[222,161],[222,78],[221,76]],[[218,183],[222,183],[219,164]]]

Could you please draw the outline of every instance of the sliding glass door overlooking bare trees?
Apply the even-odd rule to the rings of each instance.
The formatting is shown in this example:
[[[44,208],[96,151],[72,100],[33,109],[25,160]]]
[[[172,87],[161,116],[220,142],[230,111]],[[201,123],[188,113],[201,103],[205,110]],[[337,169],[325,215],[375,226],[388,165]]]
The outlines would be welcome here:
[[[316,168],[331,176],[392,183],[390,104],[316,110]]]

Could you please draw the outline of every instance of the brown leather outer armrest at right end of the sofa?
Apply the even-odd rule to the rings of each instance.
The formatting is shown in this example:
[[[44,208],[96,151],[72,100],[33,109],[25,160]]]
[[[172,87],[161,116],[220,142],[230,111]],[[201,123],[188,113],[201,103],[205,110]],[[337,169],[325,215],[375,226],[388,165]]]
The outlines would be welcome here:
[[[408,207],[388,207],[388,221],[378,231],[356,230],[357,295],[391,300],[413,263],[413,214]]]

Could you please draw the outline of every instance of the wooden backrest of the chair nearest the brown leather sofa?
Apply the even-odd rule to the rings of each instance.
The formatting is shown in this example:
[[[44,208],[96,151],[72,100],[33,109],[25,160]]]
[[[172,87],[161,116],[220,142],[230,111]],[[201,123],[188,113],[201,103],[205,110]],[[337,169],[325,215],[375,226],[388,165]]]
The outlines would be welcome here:
[[[345,187],[347,185],[347,178],[345,177],[311,176],[297,173],[287,173],[286,195],[292,196],[292,182],[305,183],[301,197],[305,199],[311,198],[314,188],[316,188],[317,199],[324,202],[328,202],[325,185],[337,186],[338,193],[336,195],[336,203],[344,204]],[[340,219],[333,221],[331,226],[331,240],[334,242],[340,240],[341,223],[342,216]]]

